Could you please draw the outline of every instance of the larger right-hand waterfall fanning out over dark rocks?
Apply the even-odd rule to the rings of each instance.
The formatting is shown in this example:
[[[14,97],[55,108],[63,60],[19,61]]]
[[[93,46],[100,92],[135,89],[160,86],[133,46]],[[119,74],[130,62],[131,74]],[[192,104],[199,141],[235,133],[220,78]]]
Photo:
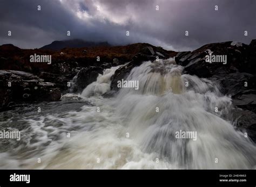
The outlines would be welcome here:
[[[169,59],[131,71],[127,80],[139,81],[139,89],[123,88],[113,99],[131,138],[144,152],[157,153],[178,168],[252,168],[255,146],[224,119],[231,98],[221,95],[219,85],[181,75],[182,70]],[[196,141],[177,139],[180,131],[197,132]]]

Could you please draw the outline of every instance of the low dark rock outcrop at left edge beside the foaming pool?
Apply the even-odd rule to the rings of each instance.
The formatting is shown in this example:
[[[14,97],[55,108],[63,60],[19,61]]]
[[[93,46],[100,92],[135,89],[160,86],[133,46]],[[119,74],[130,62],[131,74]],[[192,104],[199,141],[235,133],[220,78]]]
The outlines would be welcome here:
[[[11,102],[57,101],[60,89],[50,82],[24,71],[0,70],[0,110]]]

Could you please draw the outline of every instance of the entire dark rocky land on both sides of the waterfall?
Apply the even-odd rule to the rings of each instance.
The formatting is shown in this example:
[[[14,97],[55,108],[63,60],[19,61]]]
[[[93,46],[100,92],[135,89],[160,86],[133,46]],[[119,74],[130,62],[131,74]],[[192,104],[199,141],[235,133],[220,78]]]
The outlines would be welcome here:
[[[48,54],[52,63],[31,63],[29,56]],[[206,55],[226,55],[226,61],[206,62]],[[20,49],[0,46],[0,109],[10,110],[19,102],[57,101],[71,89],[81,92],[97,80],[98,74],[112,66],[125,64],[111,77],[111,92],[118,91],[117,81],[143,61],[175,57],[184,73],[218,82],[224,95],[233,100],[230,120],[256,140],[256,40],[250,45],[221,42],[204,45],[192,52],[166,51],[150,44],[119,47],[64,48],[60,51]],[[72,81],[73,80],[73,81]]]

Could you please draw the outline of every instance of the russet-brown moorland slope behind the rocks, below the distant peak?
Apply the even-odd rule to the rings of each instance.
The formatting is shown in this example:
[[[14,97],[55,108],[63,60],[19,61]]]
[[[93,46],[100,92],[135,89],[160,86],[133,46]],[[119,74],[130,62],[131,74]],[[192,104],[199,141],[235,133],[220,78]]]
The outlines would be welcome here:
[[[39,73],[41,71],[56,73],[56,68],[53,67],[57,67],[57,65],[53,66],[53,64],[62,62],[68,64],[77,62],[79,66],[82,67],[98,66],[97,56],[100,56],[99,63],[112,63],[113,59],[117,58],[119,63],[122,64],[130,62],[138,53],[151,55],[149,54],[150,52],[147,47],[152,47],[154,52],[160,52],[161,54],[167,53],[170,57],[176,56],[177,54],[177,52],[166,51],[161,47],[146,43],[130,44],[126,46],[66,47],[60,50],[50,50],[45,48],[21,49],[12,44],[4,44],[0,46],[0,69],[28,71],[32,73]],[[51,55],[52,66],[49,66],[46,63],[30,63],[30,55],[33,54]],[[77,64],[75,66],[77,66]],[[59,68],[57,68],[57,70],[58,69]]]

